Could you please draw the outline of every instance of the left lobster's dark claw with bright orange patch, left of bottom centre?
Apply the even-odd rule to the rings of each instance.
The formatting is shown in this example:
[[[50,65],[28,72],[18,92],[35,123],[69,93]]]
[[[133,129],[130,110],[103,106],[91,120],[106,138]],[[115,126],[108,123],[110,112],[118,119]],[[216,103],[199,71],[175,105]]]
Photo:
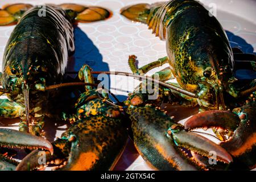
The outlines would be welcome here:
[[[88,65],[80,69],[79,77],[94,83]],[[53,155],[46,151],[46,166],[55,163],[55,169],[61,170],[110,170],[121,156],[128,137],[121,107],[102,89],[86,86],[85,90],[67,118],[75,122],[52,143]],[[16,170],[43,167],[38,163],[39,154],[39,150],[32,151]]]

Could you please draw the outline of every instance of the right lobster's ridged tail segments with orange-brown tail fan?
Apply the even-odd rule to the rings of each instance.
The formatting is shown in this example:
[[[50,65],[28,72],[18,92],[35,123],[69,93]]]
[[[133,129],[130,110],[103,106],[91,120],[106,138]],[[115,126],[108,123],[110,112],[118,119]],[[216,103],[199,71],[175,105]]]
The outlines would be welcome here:
[[[166,39],[166,28],[171,24],[172,20],[183,11],[195,7],[201,8],[201,4],[196,1],[176,0],[158,2],[152,5],[127,6],[121,9],[121,14],[136,22],[148,24],[148,28],[152,29],[152,33],[164,40]]]

